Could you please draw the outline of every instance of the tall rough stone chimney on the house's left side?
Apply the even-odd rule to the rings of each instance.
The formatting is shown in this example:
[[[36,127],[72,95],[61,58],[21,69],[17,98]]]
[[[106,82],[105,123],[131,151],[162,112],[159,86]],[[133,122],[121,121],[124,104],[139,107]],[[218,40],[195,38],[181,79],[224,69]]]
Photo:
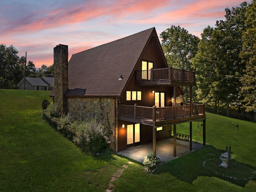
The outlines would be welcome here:
[[[68,46],[59,44],[54,47],[54,102],[60,112],[68,113]]]

